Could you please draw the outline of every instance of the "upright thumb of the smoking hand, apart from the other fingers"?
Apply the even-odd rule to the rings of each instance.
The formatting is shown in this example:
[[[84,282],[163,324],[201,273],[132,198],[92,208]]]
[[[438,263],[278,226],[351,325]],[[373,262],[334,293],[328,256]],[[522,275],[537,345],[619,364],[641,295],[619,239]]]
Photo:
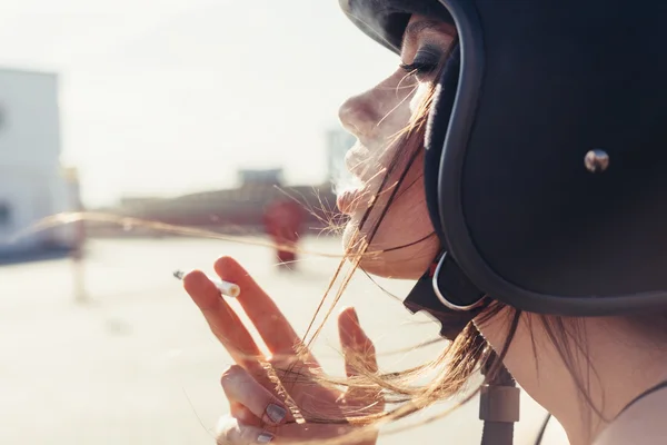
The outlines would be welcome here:
[[[348,377],[360,375],[362,369],[370,373],[378,372],[375,346],[361,328],[354,308],[346,308],[338,317],[338,335],[345,354],[345,370]]]

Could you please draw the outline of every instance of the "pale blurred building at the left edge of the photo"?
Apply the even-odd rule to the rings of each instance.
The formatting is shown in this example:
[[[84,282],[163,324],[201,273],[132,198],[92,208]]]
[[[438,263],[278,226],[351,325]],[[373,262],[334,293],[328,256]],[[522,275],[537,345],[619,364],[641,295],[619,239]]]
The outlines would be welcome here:
[[[73,247],[72,226],[14,239],[78,209],[77,172],[62,168],[60,154],[58,76],[0,69],[0,254]]]

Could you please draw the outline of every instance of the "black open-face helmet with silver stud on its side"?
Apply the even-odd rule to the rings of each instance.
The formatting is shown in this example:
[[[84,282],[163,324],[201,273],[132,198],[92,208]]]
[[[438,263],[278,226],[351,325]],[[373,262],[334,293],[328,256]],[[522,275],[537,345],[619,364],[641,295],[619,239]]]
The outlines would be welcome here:
[[[457,28],[425,166],[449,307],[667,308],[667,2],[340,2],[397,52],[412,13]]]

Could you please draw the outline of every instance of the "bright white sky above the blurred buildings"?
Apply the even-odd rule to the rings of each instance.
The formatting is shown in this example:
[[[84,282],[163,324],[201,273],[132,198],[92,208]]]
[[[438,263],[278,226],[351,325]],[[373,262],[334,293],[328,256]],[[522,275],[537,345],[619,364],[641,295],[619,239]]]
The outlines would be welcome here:
[[[89,205],[325,179],[338,106],[395,69],[337,0],[0,1],[0,66],[61,76],[66,164]]]

